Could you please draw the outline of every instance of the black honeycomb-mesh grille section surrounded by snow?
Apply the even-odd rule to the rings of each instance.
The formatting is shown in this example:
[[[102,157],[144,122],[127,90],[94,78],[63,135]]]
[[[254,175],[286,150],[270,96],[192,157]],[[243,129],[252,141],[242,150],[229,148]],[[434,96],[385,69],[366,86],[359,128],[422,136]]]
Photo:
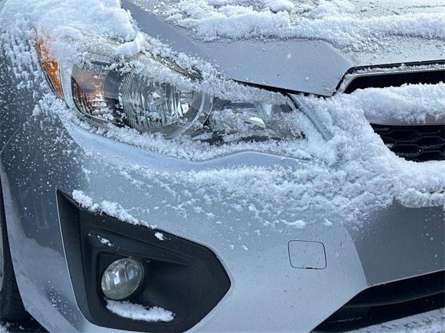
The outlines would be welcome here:
[[[391,151],[406,160],[445,160],[445,125],[371,126]]]

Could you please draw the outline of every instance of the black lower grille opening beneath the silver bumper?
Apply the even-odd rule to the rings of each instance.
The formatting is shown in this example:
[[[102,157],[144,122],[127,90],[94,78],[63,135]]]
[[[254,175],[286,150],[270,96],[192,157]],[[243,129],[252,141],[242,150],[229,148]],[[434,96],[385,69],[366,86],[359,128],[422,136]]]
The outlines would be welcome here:
[[[316,332],[346,332],[445,306],[445,272],[382,284],[359,293],[316,327]]]

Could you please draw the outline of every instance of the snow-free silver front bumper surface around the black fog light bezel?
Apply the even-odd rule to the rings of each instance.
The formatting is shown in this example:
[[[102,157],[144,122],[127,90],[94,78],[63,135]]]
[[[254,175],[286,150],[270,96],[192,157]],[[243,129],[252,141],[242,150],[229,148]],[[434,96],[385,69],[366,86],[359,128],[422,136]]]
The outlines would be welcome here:
[[[191,332],[309,332],[368,287],[444,269],[442,207],[393,203],[354,223],[336,212],[311,210],[298,218],[312,223],[296,228],[267,225],[250,205],[227,210],[236,204],[227,202],[229,194],[215,194],[220,204],[209,203],[208,194],[177,178],[155,178],[173,170],[298,163],[253,152],[187,162],[58,118],[33,117],[1,153],[11,255],[26,309],[51,332],[109,332],[87,321],[76,303],[56,190],[119,203],[139,221],[213,250],[231,287]],[[291,241],[323,244],[325,262],[293,249]],[[298,268],[311,260],[320,269]]]

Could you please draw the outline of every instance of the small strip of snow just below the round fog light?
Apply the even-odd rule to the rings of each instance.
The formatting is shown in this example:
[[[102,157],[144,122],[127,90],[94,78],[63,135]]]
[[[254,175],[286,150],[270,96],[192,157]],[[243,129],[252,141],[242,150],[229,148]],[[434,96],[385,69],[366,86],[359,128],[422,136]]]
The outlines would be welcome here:
[[[106,308],[118,316],[132,319],[133,321],[169,322],[175,318],[172,311],[162,307],[143,307],[129,301],[118,302],[107,300]]]

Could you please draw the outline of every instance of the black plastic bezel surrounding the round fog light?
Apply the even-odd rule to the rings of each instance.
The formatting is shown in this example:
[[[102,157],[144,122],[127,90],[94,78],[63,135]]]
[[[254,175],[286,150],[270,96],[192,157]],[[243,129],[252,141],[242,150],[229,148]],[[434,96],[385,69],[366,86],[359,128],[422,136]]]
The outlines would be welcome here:
[[[138,332],[185,332],[216,307],[230,288],[218,257],[206,246],[81,208],[57,191],[60,227],[76,302],[88,321],[102,327]],[[112,246],[99,237],[108,239]],[[175,313],[167,323],[133,321],[106,309],[101,280],[116,259],[132,257],[144,265],[145,280],[129,298]]]

